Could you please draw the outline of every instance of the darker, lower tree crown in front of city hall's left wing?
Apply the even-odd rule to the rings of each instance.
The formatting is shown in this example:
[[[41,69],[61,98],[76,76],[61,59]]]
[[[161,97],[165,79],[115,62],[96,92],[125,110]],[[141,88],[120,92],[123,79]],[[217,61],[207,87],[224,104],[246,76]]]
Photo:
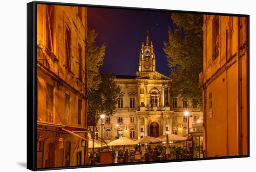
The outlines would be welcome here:
[[[115,113],[120,87],[112,75],[101,75],[101,83],[97,89],[88,92],[89,121],[98,121],[101,113],[111,116]]]

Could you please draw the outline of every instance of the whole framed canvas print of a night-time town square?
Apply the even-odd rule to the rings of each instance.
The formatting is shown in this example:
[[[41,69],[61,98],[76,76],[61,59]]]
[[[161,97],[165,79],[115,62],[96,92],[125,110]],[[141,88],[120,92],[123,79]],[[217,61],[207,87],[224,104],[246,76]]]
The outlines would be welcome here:
[[[248,76],[249,15],[30,2],[27,168],[249,157]]]

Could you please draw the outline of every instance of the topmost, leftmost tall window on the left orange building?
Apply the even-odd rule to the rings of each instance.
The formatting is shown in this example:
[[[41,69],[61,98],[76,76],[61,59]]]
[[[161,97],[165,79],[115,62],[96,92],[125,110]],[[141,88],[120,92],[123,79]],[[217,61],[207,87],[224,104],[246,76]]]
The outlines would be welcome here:
[[[46,46],[50,51],[54,51],[54,17],[55,7],[53,5],[46,6]]]

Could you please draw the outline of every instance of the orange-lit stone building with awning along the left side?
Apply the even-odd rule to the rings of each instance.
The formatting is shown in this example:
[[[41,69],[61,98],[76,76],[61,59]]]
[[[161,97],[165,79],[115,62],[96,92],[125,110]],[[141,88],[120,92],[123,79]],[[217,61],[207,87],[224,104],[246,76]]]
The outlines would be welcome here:
[[[37,168],[85,164],[87,8],[37,5]]]

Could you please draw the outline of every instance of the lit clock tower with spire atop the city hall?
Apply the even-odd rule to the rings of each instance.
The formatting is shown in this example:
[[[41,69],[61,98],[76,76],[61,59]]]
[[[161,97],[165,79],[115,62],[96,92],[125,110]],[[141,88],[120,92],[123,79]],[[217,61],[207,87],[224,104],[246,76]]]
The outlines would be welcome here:
[[[147,31],[146,45],[142,42],[141,52],[139,57],[139,71],[136,72],[137,76],[155,71],[155,52],[153,43],[149,44],[149,37]]]

